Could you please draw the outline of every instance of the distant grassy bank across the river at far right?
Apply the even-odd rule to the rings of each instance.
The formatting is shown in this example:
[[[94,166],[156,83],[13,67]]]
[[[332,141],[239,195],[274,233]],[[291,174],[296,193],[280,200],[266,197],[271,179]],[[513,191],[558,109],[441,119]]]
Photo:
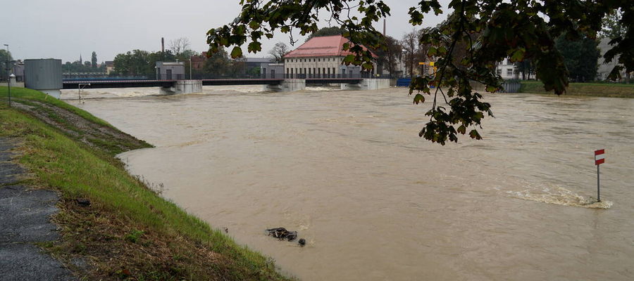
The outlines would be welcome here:
[[[519,92],[553,93],[545,91],[541,81],[521,81]],[[634,84],[571,83],[565,95],[634,98]]]

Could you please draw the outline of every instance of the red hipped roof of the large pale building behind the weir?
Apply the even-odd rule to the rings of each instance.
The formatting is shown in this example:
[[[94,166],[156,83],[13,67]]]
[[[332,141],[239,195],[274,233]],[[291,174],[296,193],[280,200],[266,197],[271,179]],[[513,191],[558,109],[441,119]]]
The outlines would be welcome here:
[[[302,46],[297,47],[290,53],[284,55],[284,58],[313,58],[313,57],[338,57],[349,55],[352,52],[343,51],[343,44],[349,40],[341,35],[313,37]],[[363,50],[367,48],[365,46]],[[376,57],[372,53],[373,57]]]

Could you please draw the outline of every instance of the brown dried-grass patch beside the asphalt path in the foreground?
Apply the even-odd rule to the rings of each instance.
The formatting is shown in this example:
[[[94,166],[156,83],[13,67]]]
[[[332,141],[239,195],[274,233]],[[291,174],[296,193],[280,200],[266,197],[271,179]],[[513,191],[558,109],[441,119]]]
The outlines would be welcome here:
[[[54,221],[63,240],[44,244],[75,273],[90,280],[231,280],[230,261],[206,245],[131,225],[97,205],[62,200]],[[78,259],[88,266],[76,264]]]

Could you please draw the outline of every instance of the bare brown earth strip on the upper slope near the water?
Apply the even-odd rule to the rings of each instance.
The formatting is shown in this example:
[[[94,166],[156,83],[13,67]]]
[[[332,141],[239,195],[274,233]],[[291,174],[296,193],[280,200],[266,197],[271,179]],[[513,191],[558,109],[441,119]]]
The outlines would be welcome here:
[[[139,148],[151,148],[148,143],[128,133],[95,124],[55,105],[35,100],[15,100],[14,106],[63,131],[75,140],[104,150],[110,155]]]

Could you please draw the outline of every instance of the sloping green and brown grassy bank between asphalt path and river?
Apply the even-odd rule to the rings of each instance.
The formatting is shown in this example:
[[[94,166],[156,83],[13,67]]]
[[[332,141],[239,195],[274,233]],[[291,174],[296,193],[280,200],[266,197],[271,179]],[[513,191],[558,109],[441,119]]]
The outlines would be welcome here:
[[[0,136],[15,137],[22,183],[58,190],[61,230],[42,243],[83,280],[286,280],[242,247],[130,176],[117,153],[151,145],[39,91],[0,87]],[[0,186],[1,188],[1,186]],[[87,198],[89,207],[75,200]],[[79,260],[85,261],[84,266]]]

